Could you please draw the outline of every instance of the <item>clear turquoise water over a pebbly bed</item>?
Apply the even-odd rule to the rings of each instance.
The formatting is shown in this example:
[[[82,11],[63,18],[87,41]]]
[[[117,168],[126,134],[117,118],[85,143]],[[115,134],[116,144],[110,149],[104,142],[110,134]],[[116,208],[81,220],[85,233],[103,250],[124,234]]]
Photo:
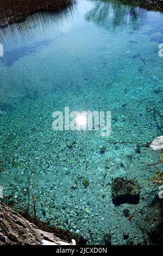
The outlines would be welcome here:
[[[102,244],[108,231],[114,245],[126,244],[123,232],[134,244],[148,243],[137,221],[157,190],[148,164],[159,153],[111,142],[146,143],[162,135],[162,21],[158,12],[84,0],[64,13],[35,14],[0,29],[1,159],[17,146],[0,176],[9,204],[26,203],[27,186],[41,220],[77,231],[88,244]],[[52,130],[52,113],[65,106],[111,111],[111,135]],[[68,149],[71,139],[76,143]],[[137,179],[138,205],[112,204],[117,176]],[[135,214],[131,222],[126,208]]]

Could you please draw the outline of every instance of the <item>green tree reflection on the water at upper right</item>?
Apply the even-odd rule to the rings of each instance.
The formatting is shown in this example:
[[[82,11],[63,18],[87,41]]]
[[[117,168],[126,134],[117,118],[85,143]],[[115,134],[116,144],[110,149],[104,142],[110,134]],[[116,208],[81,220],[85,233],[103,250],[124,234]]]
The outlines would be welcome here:
[[[146,17],[146,11],[139,7],[112,0],[90,1],[95,3],[95,8],[85,15],[85,19],[105,29],[115,30],[117,27],[125,28],[129,25],[135,31],[142,26]]]

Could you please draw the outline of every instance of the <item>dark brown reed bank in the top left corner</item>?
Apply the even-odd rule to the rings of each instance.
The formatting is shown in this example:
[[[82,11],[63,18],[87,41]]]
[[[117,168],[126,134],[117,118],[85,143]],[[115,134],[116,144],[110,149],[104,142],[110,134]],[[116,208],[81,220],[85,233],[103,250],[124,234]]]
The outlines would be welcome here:
[[[0,27],[38,11],[58,11],[75,0],[0,0]]]

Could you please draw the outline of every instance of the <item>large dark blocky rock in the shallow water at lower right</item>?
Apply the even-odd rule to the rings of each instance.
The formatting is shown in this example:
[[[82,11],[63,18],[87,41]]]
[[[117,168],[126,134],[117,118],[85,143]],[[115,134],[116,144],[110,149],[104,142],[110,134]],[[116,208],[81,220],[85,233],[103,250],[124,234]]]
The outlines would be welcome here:
[[[111,185],[112,202],[115,205],[120,204],[138,204],[139,203],[139,184],[135,179],[117,177],[112,179]]]

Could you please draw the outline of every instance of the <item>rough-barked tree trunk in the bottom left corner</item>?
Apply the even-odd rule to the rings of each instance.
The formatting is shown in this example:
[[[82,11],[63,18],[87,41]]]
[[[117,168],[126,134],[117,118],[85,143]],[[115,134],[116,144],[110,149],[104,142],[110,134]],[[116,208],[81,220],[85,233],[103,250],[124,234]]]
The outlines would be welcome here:
[[[74,240],[68,243],[38,229],[26,218],[0,202],[0,245],[41,245],[51,242],[53,245],[75,245]]]

